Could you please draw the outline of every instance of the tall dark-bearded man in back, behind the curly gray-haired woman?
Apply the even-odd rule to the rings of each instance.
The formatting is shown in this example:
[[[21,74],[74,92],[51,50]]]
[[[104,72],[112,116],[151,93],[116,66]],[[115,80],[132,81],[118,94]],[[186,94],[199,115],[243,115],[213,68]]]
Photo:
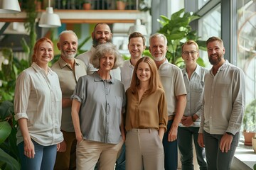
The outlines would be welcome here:
[[[97,47],[97,45],[112,41],[110,26],[108,26],[107,23],[97,23],[92,32],[92,41],[93,45],[91,49],[76,57],[85,62],[85,65],[87,66],[87,74],[92,74],[93,72],[97,71],[97,68],[93,67],[92,64],[90,64],[90,57],[95,51],[95,47]],[[110,74],[112,78],[121,80],[121,72],[119,67],[117,69],[112,69],[110,71]]]

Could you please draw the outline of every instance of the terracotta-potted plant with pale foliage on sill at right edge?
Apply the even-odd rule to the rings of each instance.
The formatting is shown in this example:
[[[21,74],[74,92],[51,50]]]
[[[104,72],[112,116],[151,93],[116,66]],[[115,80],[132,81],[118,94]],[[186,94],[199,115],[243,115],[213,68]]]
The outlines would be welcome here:
[[[256,134],[256,99],[245,108],[245,115],[242,120],[245,145],[252,146],[252,137]]]

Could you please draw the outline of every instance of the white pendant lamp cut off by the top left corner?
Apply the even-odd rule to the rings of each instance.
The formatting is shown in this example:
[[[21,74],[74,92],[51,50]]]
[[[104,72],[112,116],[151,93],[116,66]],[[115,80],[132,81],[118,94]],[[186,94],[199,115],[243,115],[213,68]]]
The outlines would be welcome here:
[[[18,0],[0,0],[0,13],[18,13],[21,7]]]

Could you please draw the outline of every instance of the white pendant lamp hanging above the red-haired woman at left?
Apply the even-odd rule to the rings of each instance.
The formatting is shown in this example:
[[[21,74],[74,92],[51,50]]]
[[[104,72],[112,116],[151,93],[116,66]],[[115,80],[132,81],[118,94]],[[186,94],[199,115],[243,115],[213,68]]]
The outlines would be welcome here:
[[[46,12],[42,14],[39,25],[43,28],[55,28],[60,27],[60,17],[58,14],[53,13],[53,7],[50,7],[50,0],[48,0],[48,7],[46,8]]]

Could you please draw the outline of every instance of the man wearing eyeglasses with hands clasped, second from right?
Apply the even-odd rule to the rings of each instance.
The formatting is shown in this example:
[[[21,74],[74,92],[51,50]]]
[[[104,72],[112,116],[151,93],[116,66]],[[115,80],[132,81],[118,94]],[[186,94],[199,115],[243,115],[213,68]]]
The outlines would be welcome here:
[[[204,149],[198,145],[198,130],[200,128],[203,107],[204,76],[207,69],[196,63],[198,60],[198,44],[188,40],[182,47],[182,59],[186,67],[182,69],[186,86],[186,108],[178,127],[178,149],[181,152],[181,168],[193,169],[193,142],[196,148],[196,158],[201,170],[207,170],[204,160]],[[192,142],[193,139],[193,142]]]

